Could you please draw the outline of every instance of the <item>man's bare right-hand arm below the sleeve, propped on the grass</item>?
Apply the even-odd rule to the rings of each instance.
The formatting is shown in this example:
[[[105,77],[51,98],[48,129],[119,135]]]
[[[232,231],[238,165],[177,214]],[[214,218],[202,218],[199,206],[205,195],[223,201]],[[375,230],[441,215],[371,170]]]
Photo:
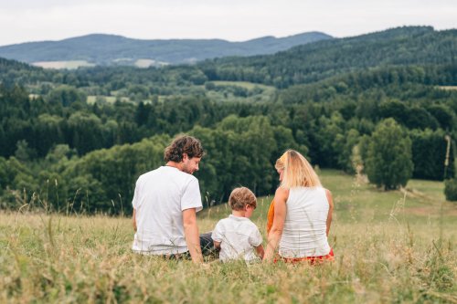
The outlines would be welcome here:
[[[200,248],[200,236],[198,235],[196,208],[183,210],[184,236],[187,248],[194,263],[203,263]]]

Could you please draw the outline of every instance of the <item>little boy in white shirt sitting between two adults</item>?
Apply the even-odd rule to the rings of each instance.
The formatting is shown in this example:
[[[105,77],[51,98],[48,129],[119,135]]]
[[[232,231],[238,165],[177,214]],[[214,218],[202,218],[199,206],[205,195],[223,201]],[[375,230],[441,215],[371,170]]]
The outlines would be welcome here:
[[[235,188],[228,198],[228,204],[232,214],[218,221],[211,235],[214,246],[220,248],[219,259],[227,261],[242,258],[250,262],[262,258],[260,231],[249,219],[257,206],[256,196],[246,187]]]

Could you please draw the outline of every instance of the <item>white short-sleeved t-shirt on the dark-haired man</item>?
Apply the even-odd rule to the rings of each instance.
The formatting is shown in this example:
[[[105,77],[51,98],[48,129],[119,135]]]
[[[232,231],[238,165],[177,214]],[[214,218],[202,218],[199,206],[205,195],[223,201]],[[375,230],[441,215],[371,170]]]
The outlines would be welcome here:
[[[195,176],[170,166],[144,173],[136,181],[132,204],[137,226],[133,251],[169,255],[188,250],[183,211],[203,207]]]

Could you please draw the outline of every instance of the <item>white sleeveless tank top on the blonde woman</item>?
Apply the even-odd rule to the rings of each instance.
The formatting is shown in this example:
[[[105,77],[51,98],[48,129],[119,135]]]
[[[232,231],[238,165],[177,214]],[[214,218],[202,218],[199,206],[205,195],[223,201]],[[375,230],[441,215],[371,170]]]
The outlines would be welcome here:
[[[281,257],[319,257],[330,252],[326,220],[328,200],[323,187],[295,187],[289,191],[280,242]]]

